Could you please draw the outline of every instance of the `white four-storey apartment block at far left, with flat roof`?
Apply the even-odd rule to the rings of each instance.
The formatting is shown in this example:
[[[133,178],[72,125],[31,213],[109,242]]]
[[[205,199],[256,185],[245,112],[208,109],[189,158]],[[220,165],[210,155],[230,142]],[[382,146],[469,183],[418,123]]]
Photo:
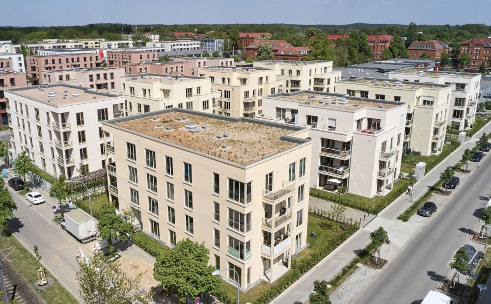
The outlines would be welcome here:
[[[121,116],[124,97],[70,84],[54,83],[5,90],[10,126],[9,157],[26,151],[51,175],[79,175],[106,166],[102,121]]]

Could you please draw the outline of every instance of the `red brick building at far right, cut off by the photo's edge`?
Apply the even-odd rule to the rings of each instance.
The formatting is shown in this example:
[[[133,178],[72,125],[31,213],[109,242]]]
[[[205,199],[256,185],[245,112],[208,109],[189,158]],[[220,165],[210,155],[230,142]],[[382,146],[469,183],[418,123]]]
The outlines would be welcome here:
[[[470,56],[470,63],[465,66],[465,71],[475,72],[479,70],[482,63],[490,68],[488,60],[491,58],[491,38],[473,38],[464,41],[461,43],[459,58],[464,52]]]

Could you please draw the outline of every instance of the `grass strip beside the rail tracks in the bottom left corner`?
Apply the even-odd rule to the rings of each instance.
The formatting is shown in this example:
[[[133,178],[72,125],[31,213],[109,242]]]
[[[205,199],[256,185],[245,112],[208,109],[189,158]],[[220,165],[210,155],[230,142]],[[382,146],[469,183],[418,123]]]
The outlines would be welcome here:
[[[17,241],[14,236],[3,236],[0,238],[0,248],[9,248],[15,246],[16,249],[8,256],[11,263],[17,268],[22,276],[34,286],[37,284],[38,269],[41,264],[36,260],[36,258],[27,249],[22,246],[22,244]],[[8,253],[4,251],[4,253]],[[40,252],[43,255],[42,252]],[[41,259],[42,261],[42,259]],[[51,276],[54,278],[50,272],[45,269],[46,276]],[[44,289],[38,290],[34,287],[37,293],[46,301],[46,303],[78,303],[77,300],[60,284],[58,280],[55,279],[55,284]]]

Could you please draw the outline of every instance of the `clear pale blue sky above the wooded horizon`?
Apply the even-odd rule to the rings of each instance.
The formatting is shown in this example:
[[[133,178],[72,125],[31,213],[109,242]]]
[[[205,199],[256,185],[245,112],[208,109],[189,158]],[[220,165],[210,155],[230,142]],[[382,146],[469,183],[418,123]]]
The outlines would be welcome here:
[[[126,24],[490,24],[491,0],[17,0],[0,26]],[[16,13],[6,13],[16,12]]]

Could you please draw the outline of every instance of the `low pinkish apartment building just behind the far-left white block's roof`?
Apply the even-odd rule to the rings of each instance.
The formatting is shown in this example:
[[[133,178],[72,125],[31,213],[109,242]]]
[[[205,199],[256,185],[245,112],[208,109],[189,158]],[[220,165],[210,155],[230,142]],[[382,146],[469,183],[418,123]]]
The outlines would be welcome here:
[[[41,72],[40,84],[67,83],[83,87],[95,88],[101,92],[111,92],[121,88],[123,68],[73,68],[45,70]]]

